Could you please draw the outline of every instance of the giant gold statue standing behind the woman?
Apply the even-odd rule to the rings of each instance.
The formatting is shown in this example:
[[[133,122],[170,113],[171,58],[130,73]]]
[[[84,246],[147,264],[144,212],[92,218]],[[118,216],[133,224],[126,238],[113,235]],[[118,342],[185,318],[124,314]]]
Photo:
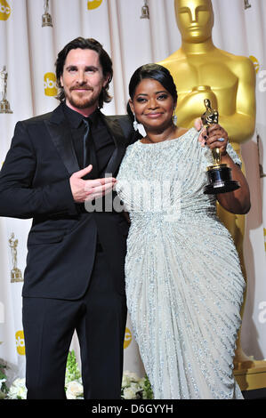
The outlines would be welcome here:
[[[204,100],[209,99],[214,109],[219,109],[219,123],[229,133],[230,143],[241,157],[240,146],[251,139],[255,126],[254,64],[246,57],[233,55],[214,46],[214,10],[211,0],[175,0],[174,8],[181,32],[181,48],[159,63],[170,70],[177,86],[178,125],[186,128],[193,126],[195,119],[205,110]],[[243,257],[245,215],[229,213],[221,205],[218,205],[217,210],[234,239],[246,277]],[[242,318],[245,301],[246,294]],[[252,361],[246,356],[241,349],[240,332],[234,365],[242,390],[266,387],[266,362]],[[260,386],[262,382],[257,386],[256,383],[249,384],[246,374],[250,369],[262,366],[265,367],[265,374],[261,373],[264,386]],[[243,375],[243,379],[237,374]],[[253,384],[256,387],[252,387]]]

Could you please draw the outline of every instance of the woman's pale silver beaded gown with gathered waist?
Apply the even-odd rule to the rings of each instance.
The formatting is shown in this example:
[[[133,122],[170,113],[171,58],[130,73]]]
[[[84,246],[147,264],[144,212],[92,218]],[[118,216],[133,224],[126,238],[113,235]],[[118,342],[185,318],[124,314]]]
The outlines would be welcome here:
[[[131,219],[127,306],[156,399],[242,398],[232,363],[246,284],[215,197],[203,193],[213,159],[197,140],[192,128],[137,141],[117,175]],[[230,144],[228,153],[241,165]]]

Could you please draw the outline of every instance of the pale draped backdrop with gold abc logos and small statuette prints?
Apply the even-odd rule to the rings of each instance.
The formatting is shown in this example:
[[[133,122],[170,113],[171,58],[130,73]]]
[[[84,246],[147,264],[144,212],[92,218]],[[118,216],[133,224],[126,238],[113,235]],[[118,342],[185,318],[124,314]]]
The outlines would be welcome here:
[[[248,291],[242,348],[262,359],[266,358],[266,1],[213,0],[213,5],[214,44],[251,57],[257,74],[256,131],[242,147],[252,194],[252,209],[246,217]],[[149,15],[143,6],[149,7]],[[49,22],[47,13],[52,26],[42,26],[43,20]],[[173,0],[0,0],[0,100],[5,109],[9,103],[12,111],[0,114],[1,164],[16,122],[57,106],[54,61],[57,52],[77,36],[98,39],[113,60],[114,99],[104,107],[107,115],[125,114],[127,85],[135,68],[163,60],[181,46]],[[25,370],[21,288],[30,223],[0,219],[0,358],[12,364],[20,377]],[[76,336],[72,347],[78,356]],[[125,369],[143,373],[130,318]]]

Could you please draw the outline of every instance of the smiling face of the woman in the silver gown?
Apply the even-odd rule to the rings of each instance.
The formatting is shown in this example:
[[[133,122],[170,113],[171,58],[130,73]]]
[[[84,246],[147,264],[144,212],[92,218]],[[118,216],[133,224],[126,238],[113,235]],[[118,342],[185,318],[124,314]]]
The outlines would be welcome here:
[[[141,80],[130,106],[138,122],[149,130],[165,129],[173,123],[173,97],[153,78]]]

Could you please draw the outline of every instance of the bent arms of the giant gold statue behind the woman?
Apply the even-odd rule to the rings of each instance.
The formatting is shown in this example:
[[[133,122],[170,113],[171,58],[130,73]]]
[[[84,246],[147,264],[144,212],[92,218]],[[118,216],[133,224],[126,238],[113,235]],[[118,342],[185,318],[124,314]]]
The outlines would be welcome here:
[[[194,86],[192,91],[180,93],[177,116],[180,126],[190,128],[202,113],[203,102],[209,99],[215,109],[219,109],[220,123],[229,133],[232,144],[249,140],[255,126],[255,71],[254,64],[246,57],[238,57],[230,62],[230,71],[238,78],[236,92],[212,90],[212,86]]]

